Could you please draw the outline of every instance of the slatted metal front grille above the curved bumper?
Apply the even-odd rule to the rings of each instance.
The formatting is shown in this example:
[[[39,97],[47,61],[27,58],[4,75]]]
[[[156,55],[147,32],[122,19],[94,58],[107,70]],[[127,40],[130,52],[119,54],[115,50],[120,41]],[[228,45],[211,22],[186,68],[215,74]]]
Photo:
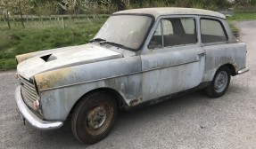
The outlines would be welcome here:
[[[21,81],[21,95],[26,103],[27,106],[29,106],[31,109],[34,108],[34,101],[39,99],[39,96],[37,94],[36,86],[34,82],[29,82],[25,78],[20,76]]]

